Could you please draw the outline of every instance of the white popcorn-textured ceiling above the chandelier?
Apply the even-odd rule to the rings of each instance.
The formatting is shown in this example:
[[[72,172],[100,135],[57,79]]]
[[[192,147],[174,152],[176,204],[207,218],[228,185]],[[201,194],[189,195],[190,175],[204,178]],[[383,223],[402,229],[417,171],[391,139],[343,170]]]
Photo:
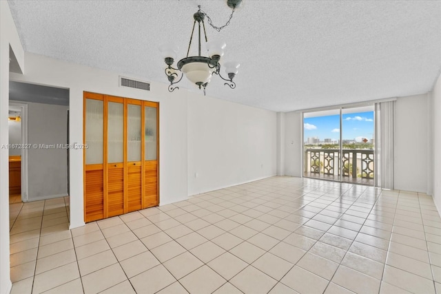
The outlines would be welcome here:
[[[158,45],[181,59],[199,4],[214,25],[231,13],[226,0],[8,2],[25,51],[163,83]],[[207,95],[275,111],[421,94],[440,74],[441,1],[244,0],[206,28],[240,62],[236,89],[215,76]]]

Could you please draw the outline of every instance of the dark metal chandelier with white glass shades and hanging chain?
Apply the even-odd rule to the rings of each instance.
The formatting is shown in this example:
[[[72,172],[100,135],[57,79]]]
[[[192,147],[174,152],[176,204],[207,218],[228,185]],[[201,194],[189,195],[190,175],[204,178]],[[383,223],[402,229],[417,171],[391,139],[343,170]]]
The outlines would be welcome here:
[[[208,15],[201,10],[201,6],[198,6],[198,11],[193,14],[194,23],[192,34],[190,36],[190,41],[188,44],[187,56],[178,61],[177,68],[172,67],[174,60],[176,59],[176,54],[178,53],[178,47],[173,44],[162,45],[159,50],[161,50],[165,64],[167,67],[165,68],[165,74],[167,75],[168,81],[170,85],[168,86],[168,90],[173,92],[179,87],[174,86],[176,83],[179,83],[183,76],[185,76],[189,81],[194,83],[199,89],[203,89],[205,95],[205,87],[207,87],[208,83],[211,81],[212,76],[217,74],[222,78],[226,83],[224,85],[228,85],[230,88],[234,89],[236,87],[236,83],[234,83],[233,78],[238,73],[239,63],[236,62],[227,62],[224,63],[225,72],[228,78],[224,78],[220,74],[220,58],[223,56],[223,51],[225,50],[226,44],[224,41],[208,41],[207,34],[205,33],[205,23],[204,19],[207,17],[209,25],[211,25],[215,30],[220,32],[223,28],[229,25],[229,21],[232,19],[234,11],[236,7],[240,4],[242,0],[227,0],[227,5],[229,8],[232,8],[232,14],[229,16],[229,20],[227,23],[220,28],[214,26],[212,24],[212,20],[208,17]],[[196,27],[196,22],[198,23],[198,55],[197,56],[188,56],[190,47],[192,45],[192,39],[194,34],[194,28]],[[207,43],[207,51],[208,56],[201,55],[201,29],[203,29],[203,34],[205,36],[205,42]],[[181,72],[179,74],[178,72]],[[180,77],[179,77],[180,76]]]

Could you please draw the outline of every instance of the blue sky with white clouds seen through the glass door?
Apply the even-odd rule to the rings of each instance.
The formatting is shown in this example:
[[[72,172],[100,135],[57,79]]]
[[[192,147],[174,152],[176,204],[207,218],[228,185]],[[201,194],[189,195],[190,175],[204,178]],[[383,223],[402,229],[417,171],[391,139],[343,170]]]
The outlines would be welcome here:
[[[304,118],[305,141],[310,137],[338,140],[340,138],[340,116],[318,116]],[[343,114],[343,140],[373,138],[373,112]]]

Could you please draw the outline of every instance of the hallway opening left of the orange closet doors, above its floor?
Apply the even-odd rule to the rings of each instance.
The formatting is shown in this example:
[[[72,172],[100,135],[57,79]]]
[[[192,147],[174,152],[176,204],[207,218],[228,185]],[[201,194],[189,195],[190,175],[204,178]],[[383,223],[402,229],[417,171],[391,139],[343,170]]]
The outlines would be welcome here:
[[[10,81],[12,202],[68,196],[68,109],[67,89]]]

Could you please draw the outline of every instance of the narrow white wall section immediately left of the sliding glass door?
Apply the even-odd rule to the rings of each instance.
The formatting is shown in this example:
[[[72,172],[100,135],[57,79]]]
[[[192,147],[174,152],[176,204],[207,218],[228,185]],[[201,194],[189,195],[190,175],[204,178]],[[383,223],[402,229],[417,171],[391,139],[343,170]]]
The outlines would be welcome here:
[[[285,175],[302,175],[302,114],[285,113]]]

